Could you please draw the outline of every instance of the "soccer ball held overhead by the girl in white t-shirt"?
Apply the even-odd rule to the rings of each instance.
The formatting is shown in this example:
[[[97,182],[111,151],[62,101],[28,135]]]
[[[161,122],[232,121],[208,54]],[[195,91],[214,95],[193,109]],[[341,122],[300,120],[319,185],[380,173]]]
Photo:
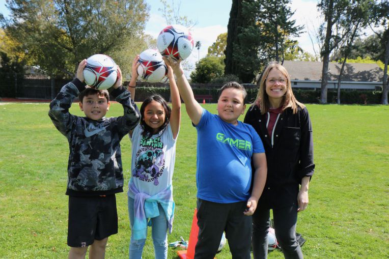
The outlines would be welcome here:
[[[168,73],[168,68],[162,60],[162,55],[156,49],[146,49],[139,55],[138,75],[145,81],[155,83],[162,80]]]

